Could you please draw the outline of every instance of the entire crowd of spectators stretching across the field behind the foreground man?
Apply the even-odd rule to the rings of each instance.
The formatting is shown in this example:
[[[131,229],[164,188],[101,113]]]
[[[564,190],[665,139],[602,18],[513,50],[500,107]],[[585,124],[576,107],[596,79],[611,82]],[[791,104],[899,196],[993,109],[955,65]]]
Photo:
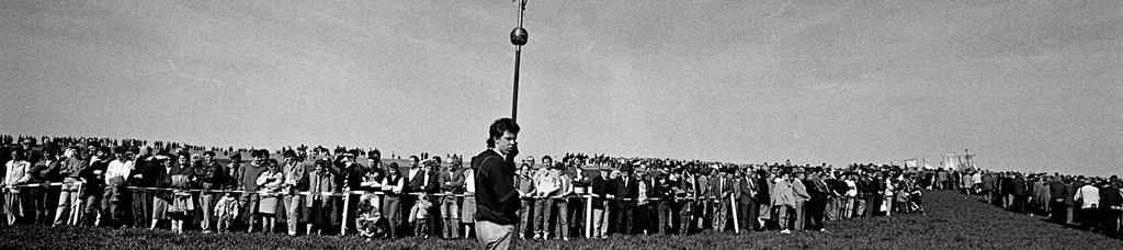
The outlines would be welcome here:
[[[475,235],[475,160],[429,154],[404,158],[403,164],[384,163],[377,149],[338,146],[270,151],[0,136],[6,165],[0,213],[7,219],[0,224],[367,239]],[[520,159],[513,179],[520,195],[515,232],[535,240],[825,232],[830,220],[923,213],[923,193],[932,188],[983,195],[1015,212],[1119,233],[1116,176],[583,154]]]

